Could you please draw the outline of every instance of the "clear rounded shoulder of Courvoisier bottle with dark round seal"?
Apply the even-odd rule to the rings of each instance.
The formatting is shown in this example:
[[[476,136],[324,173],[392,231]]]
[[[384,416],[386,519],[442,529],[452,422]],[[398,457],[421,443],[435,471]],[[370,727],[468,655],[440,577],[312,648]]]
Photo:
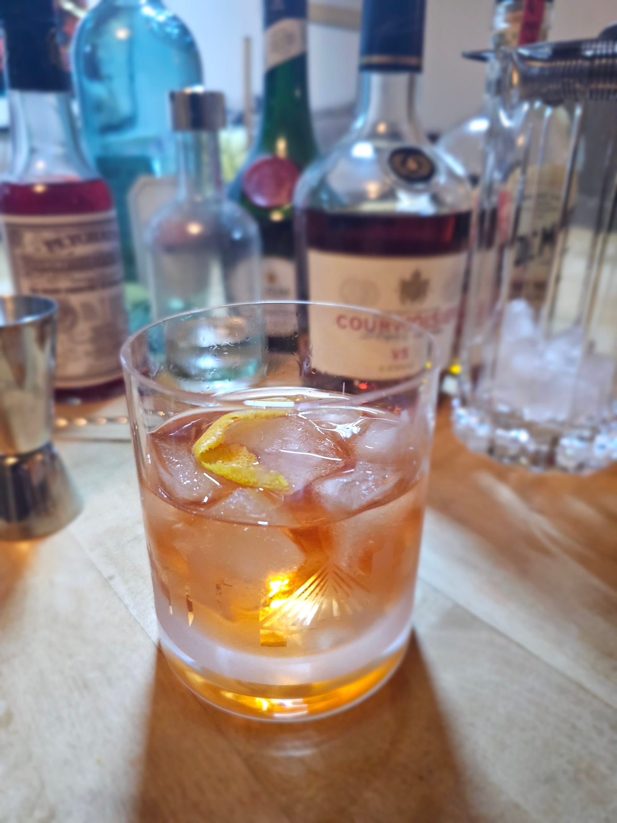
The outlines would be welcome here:
[[[428,142],[352,133],[304,172],[295,207],[434,216],[470,210],[471,188],[462,169]]]

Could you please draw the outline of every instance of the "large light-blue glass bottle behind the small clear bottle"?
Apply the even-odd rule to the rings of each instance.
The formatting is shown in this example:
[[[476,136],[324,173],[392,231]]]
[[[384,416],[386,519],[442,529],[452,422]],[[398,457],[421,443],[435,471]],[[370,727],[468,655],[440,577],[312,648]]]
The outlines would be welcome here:
[[[160,0],[100,0],[77,28],[73,74],[86,148],[118,209],[131,331],[149,319],[136,215],[173,192],[170,91],[202,82],[193,36]],[[161,179],[163,178],[163,179]]]

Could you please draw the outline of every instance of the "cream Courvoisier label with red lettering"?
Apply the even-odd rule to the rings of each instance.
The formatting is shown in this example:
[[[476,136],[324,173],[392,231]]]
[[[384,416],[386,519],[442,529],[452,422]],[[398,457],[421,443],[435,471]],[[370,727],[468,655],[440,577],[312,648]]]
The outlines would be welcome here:
[[[438,343],[435,362],[450,359],[461,303],[466,251],[443,257],[391,258],[308,250],[311,300],[378,309],[416,323]],[[403,379],[420,370],[420,347],[401,342],[392,322],[371,326],[367,315],[339,309],[311,319],[313,368],[367,380]],[[318,322],[318,325],[313,323]],[[406,334],[404,337],[408,337]]]

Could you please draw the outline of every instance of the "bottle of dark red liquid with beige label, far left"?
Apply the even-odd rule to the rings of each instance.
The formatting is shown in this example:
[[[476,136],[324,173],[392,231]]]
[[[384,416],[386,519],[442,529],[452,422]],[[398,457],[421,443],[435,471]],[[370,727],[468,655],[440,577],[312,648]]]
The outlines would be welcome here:
[[[121,391],[126,319],[114,203],[79,144],[53,2],[0,0],[0,20],[12,128],[0,221],[13,285],[58,302],[58,389],[85,398]]]

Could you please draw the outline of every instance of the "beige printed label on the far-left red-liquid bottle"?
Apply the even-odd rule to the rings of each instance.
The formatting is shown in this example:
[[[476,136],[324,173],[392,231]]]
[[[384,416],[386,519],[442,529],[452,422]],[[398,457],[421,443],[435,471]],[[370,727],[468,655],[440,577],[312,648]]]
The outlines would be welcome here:
[[[2,215],[2,232],[16,291],[58,303],[57,387],[118,379],[126,319],[115,213]]]

